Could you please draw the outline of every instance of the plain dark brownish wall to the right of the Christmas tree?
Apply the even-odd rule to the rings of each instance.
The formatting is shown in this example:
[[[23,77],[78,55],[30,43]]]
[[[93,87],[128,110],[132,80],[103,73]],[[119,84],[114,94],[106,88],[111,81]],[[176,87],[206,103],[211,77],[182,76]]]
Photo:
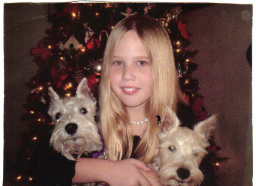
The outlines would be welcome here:
[[[190,50],[199,50],[193,77],[210,114],[220,123],[215,142],[217,155],[230,158],[216,171],[219,185],[251,185],[253,175],[251,66],[247,49],[251,43],[251,5],[218,4],[183,15],[191,33]]]

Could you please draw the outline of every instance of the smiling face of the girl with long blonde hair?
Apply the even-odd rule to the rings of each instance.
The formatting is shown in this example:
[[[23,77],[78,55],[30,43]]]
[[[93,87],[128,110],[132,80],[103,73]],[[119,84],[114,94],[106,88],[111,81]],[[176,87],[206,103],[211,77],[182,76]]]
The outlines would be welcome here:
[[[150,98],[148,56],[135,31],[123,35],[109,69],[110,87],[126,107],[141,107]]]

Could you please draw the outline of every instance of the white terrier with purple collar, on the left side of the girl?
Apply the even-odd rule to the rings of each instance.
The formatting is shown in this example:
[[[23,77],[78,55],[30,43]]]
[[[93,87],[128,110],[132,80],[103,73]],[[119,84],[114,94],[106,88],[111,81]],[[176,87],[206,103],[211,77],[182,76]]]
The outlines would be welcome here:
[[[83,78],[75,97],[60,99],[52,87],[48,88],[51,98],[48,114],[54,122],[50,143],[54,149],[69,160],[82,154],[102,150],[102,140],[94,116],[96,99]],[[75,156],[76,157],[75,157]]]

